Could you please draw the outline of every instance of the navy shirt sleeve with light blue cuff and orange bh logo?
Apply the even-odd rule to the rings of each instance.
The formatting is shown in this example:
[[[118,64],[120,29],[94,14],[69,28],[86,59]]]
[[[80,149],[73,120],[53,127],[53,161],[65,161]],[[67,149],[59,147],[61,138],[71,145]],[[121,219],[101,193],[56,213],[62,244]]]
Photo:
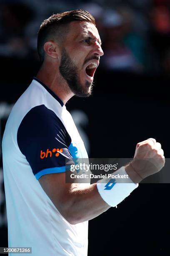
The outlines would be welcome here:
[[[37,179],[44,174],[65,172],[73,163],[68,147],[70,135],[57,115],[45,105],[32,108],[23,118],[17,133],[20,151]]]

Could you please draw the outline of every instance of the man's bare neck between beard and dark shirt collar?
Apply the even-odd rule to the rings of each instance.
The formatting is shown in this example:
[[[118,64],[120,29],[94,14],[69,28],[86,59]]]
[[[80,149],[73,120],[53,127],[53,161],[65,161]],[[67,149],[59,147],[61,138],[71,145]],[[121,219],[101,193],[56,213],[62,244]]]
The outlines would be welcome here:
[[[59,68],[56,70],[56,67],[52,67],[51,64],[42,64],[36,77],[49,87],[64,104],[74,96],[67,82],[61,76]]]

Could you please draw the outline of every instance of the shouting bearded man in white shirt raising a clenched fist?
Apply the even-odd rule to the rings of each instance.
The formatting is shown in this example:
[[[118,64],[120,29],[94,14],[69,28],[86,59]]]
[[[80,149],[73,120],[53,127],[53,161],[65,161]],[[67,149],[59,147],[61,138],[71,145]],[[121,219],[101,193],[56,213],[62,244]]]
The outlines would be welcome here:
[[[158,172],[163,150],[152,138],[138,143],[133,161],[115,172],[129,174],[129,183],[66,183],[67,162],[87,158],[65,103],[91,94],[103,55],[94,18],[83,10],[52,15],[40,26],[37,49],[40,70],[15,103],[2,141],[9,246],[32,247],[33,256],[85,256],[88,220]],[[146,158],[155,168],[138,162]]]

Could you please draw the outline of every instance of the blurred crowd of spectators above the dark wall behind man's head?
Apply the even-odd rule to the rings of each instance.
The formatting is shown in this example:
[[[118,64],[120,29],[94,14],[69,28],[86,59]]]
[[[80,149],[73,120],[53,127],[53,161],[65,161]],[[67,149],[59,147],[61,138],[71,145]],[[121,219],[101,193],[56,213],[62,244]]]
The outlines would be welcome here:
[[[100,68],[167,73],[169,6],[169,0],[127,0],[126,4],[121,0],[2,0],[0,56],[37,61],[37,31],[41,21],[52,13],[82,8],[95,17],[103,41]]]

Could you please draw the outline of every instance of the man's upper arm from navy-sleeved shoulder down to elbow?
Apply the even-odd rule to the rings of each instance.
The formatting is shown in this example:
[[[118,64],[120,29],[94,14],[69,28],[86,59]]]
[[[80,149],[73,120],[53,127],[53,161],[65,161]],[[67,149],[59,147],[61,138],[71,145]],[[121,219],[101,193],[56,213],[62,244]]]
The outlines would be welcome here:
[[[17,140],[36,179],[65,216],[72,189],[65,182],[65,169],[73,161],[68,149],[71,138],[61,120],[44,105],[32,108],[18,128]]]

